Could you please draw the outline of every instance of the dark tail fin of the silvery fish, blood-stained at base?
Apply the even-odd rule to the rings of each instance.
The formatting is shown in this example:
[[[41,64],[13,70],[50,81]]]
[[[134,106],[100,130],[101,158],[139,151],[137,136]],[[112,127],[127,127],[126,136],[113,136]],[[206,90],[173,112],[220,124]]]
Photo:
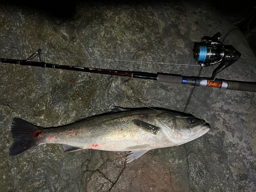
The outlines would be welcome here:
[[[36,142],[36,138],[42,130],[44,129],[40,126],[15,117],[11,127],[14,142],[10,147],[9,155],[15,156],[40,145]]]

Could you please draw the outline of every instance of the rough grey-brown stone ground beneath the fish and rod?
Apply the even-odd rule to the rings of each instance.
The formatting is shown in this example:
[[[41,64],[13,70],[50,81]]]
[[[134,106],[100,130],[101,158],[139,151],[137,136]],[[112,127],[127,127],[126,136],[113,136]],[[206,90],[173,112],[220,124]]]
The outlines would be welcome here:
[[[256,58],[214,2],[51,2],[0,7],[0,57],[102,69],[210,77],[194,42],[222,33],[241,58],[218,77],[256,81]],[[237,18],[239,19],[239,18]],[[139,62],[138,62],[139,61]],[[255,93],[0,63],[1,191],[256,191]],[[126,164],[126,152],[62,153],[41,145],[9,157],[14,117],[59,126],[124,108],[160,107],[201,117],[206,135],[152,150]]]

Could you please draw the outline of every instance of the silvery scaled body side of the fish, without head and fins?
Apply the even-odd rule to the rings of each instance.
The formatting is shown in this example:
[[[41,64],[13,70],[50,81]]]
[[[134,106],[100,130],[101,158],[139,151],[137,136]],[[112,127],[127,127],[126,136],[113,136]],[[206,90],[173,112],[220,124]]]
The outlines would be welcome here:
[[[161,112],[154,110],[149,113],[147,110],[127,114],[110,114],[103,118],[92,117],[59,129],[47,129],[46,134],[38,136],[38,142],[68,144],[83,149],[125,151],[125,148],[129,146],[152,144],[157,141],[156,135],[140,129],[132,120],[141,119],[155,125],[156,115],[159,113]],[[163,141],[160,135],[158,138]]]

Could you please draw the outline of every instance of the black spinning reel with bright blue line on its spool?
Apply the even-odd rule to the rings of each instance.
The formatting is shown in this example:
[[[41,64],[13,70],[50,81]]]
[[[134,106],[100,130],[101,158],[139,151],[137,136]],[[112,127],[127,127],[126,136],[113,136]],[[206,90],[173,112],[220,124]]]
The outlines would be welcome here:
[[[194,49],[194,58],[202,67],[219,64],[212,74],[212,80],[216,80],[217,73],[236,62],[241,56],[241,53],[234,49],[233,46],[222,44],[220,37],[220,32],[213,37],[203,37],[206,41],[196,42]]]

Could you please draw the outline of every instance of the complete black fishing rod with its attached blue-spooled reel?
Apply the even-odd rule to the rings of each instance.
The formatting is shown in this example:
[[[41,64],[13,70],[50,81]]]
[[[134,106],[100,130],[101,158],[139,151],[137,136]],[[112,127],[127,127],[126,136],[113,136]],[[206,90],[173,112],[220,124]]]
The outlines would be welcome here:
[[[78,66],[57,65],[57,64],[41,61],[40,49],[38,49],[26,60],[0,58],[0,62],[18,64],[23,66],[34,66],[34,67],[42,67],[42,68],[53,68],[53,69],[63,69],[63,70],[71,70],[71,71],[82,71],[82,72],[89,72],[89,73],[116,75],[116,76],[124,76],[124,77],[131,77],[131,78],[151,79],[151,80],[157,80],[159,82],[190,84],[191,86],[256,92],[256,82],[230,81],[230,80],[216,78],[219,72],[221,72],[222,70],[230,66],[232,63],[236,62],[241,56],[241,54],[232,46],[223,45],[220,42],[220,36],[221,34],[217,33],[213,37],[204,37],[206,41],[196,42],[195,44],[194,57],[202,67],[214,66],[219,64],[219,66],[214,70],[210,78],[188,77],[188,76],[181,76],[176,74],[165,74],[165,73],[130,72],[130,71],[86,68],[86,67],[78,67]],[[39,62],[31,61],[31,59],[36,56],[38,56]]]

